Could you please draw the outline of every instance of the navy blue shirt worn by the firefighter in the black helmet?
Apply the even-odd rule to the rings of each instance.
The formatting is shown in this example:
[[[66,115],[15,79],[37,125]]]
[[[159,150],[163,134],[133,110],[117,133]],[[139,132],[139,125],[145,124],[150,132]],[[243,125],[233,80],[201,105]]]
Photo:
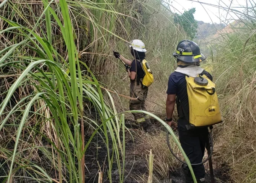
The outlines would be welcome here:
[[[208,72],[204,71],[211,81],[212,76]],[[188,106],[188,93],[186,84],[186,75],[180,72],[173,72],[168,80],[167,94],[176,94],[177,111],[181,119],[189,121],[189,106]]]

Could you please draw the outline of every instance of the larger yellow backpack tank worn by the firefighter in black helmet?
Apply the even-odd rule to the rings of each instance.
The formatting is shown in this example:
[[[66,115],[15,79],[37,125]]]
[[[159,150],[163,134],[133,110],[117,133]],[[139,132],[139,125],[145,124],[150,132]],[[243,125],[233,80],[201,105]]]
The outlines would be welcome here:
[[[222,122],[215,84],[206,75],[186,76],[186,83],[190,124],[199,127]]]

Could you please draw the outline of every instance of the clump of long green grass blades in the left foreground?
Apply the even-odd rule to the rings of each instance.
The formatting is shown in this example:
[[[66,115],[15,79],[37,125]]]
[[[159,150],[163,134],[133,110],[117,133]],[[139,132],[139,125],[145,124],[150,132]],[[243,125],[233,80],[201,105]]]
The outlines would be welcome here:
[[[25,138],[24,134],[22,138],[21,133],[24,132],[24,130],[28,132],[32,130],[28,136],[28,141],[33,139],[31,139],[31,135],[37,136],[39,134],[41,135],[41,140],[47,140],[50,144],[52,144],[53,155],[55,154],[55,151],[57,152],[58,165],[55,165],[54,156],[53,163],[55,168],[58,170],[58,181],[62,182],[62,179],[64,179],[65,181],[70,182],[84,182],[84,152],[86,151],[86,147],[91,140],[90,139],[87,142],[84,148],[83,124],[84,119],[87,119],[90,120],[91,124],[96,126],[96,131],[93,133],[91,138],[99,129],[104,135],[109,162],[108,174],[111,182],[111,167],[114,155],[119,162],[119,173],[120,177],[122,177],[119,156],[123,156],[123,154],[119,154],[118,151],[119,146],[121,146],[119,131],[122,124],[119,123],[118,117],[110,118],[111,116],[115,115],[115,110],[109,108],[109,104],[104,102],[100,85],[96,77],[94,77],[86,64],[83,63],[82,64],[87,70],[86,72],[88,74],[82,76],[81,67],[79,64],[80,61],[78,59],[78,51],[73,38],[73,26],[70,19],[70,11],[66,1],[60,1],[59,4],[56,4],[59,6],[60,12],[62,13],[62,20],[59,19],[59,16],[57,13],[55,13],[55,10],[53,10],[50,6],[51,3],[52,2],[48,3],[44,1],[45,9],[41,12],[41,15],[37,19],[32,29],[24,27],[21,24],[1,16],[2,21],[5,21],[5,24],[9,24],[9,26],[7,26],[8,28],[3,30],[1,33],[3,35],[8,35],[8,33],[10,33],[9,31],[11,30],[13,37],[18,36],[19,38],[24,39],[19,43],[13,45],[10,44],[10,46],[1,51],[3,55],[1,57],[0,67],[7,67],[7,69],[10,69],[11,67],[11,69],[16,68],[21,71],[21,74],[18,75],[18,78],[15,80],[15,82],[13,82],[11,87],[6,91],[6,93],[3,93],[3,95],[5,95],[5,99],[1,103],[0,109],[0,116],[3,115],[0,130],[3,130],[3,128],[6,127],[6,122],[10,121],[10,116],[14,116],[17,111],[19,111],[20,116],[22,116],[20,120],[17,120],[19,126],[16,132],[16,140],[13,151],[2,147],[2,152],[6,151],[3,153],[3,155],[8,154],[10,156],[6,156],[6,162],[10,161],[10,171],[8,176],[5,176],[6,180],[7,182],[11,182],[13,180],[13,175],[17,174],[19,169],[23,169],[25,172],[29,173],[28,170],[31,169],[26,169],[26,167],[35,166],[36,169],[39,169],[39,171],[37,171],[39,172],[39,175],[34,177],[35,175],[33,175],[33,173],[32,175],[29,173],[32,177],[41,180],[39,177],[42,176],[44,178],[48,178],[50,181],[57,181],[50,178],[49,175],[39,166],[32,165],[31,162],[27,162],[25,166],[19,163],[20,159],[22,159],[22,156],[19,156],[19,153],[17,153],[17,149],[22,148],[19,140]],[[5,8],[9,9],[12,4],[6,4],[5,6]],[[42,19],[44,15],[47,35],[43,34],[43,37],[41,37],[35,32],[35,30],[40,30],[39,23],[44,21]],[[53,17],[52,22],[50,21],[51,16]],[[28,21],[26,23],[29,24],[30,22]],[[67,54],[63,56],[68,59],[67,62],[66,58],[60,55],[54,48],[54,45],[51,43],[52,23],[54,23],[55,26],[58,25],[60,33],[62,34],[64,45],[67,50]],[[16,40],[13,39],[12,41]],[[23,51],[22,47],[25,49],[31,48],[32,51],[35,51],[36,55],[42,56],[42,58],[37,56],[35,57],[33,55],[26,56],[20,54],[20,52]],[[16,58],[19,61],[14,61]],[[88,75],[91,75],[92,77],[89,77]],[[13,94],[18,88],[22,88],[24,90],[26,87],[31,87],[34,91],[15,105],[14,108],[13,106],[10,106],[12,109],[11,111],[7,112],[6,110],[8,109],[6,106],[10,102]],[[111,96],[109,95],[109,97]],[[88,119],[83,115],[84,99],[87,99],[94,104],[94,107],[99,113],[100,120],[102,121],[101,125],[98,125],[95,120]],[[18,98],[15,98],[15,100],[18,100]],[[29,114],[31,113],[32,106],[34,106],[34,112],[33,114]],[[46,115],[47,108],[49,108],[49,111]],[[37,120],[38,117],[41,117],[42,121]],[[44,125],[45,123],[48,123],[48,125],[53,128],[53,131],[49,129],[49,132],[53,132],[55,134],[55,143],[57,145],[55,145],[52,139],[49,139],[52,137],[44,136],[38,132],[38,130],[36,130],[36,128],[38,128],[37,125],[33,128],[25,126],[25,124],[28,124],[28,120],[31,118],[36,120],[34,121],[36,124]],[[16,125],[15,123],[11,124],[13,127]],[[73,130],[71,130],[71,126]],[[111,137],[110,139],[109,134]],[[111,140],[113,144],[112,152],[110,152],[109,140]],[[41,150],[47,150],[47,148],[47,146],[43,145]],[[37,147],[33,147],[32,151],[38,151]],[[1,165],[1,169],[3,169],[4,164],[5,163]],[[65,176],[62,173],[62,169],[67,169],[65,170]]]

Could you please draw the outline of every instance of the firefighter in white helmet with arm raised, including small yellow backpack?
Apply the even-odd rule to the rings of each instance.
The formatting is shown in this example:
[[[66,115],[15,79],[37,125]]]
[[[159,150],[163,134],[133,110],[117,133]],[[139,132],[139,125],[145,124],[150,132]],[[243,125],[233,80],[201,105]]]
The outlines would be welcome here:
[[[131,55],[134,57],[133,61],[124,58],[118,52],[114,51],[114,56],[120,58],[126,67],[126,71],[131,80],[130,84],[130,96],[137,98],[137,100],[130,100],[130,110],[143,110],[147,111],[145,107],[145,99],[147,97],[148,87],[153,82],[152,72],[149,68],[149,64],[145,60],[146,49],[141,40],[131,41]],[[136,126],[142,126],[144,130],[147,130],[150,119],[149,115],[144,113],[132,113],[135,119]]]

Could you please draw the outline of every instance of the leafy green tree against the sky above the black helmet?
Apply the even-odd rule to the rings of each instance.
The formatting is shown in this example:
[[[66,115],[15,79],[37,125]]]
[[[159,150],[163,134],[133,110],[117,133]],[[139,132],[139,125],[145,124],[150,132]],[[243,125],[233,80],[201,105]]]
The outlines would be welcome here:
[[[185,33],[190,37],[191,39],[196,37],[198,24],[194,19],[194,13],[196,12],[196,8],[188,9],[188,11],[184,11],[183,14],[174,14],[174,22],[175,24],[179,25],[183,28]]]

